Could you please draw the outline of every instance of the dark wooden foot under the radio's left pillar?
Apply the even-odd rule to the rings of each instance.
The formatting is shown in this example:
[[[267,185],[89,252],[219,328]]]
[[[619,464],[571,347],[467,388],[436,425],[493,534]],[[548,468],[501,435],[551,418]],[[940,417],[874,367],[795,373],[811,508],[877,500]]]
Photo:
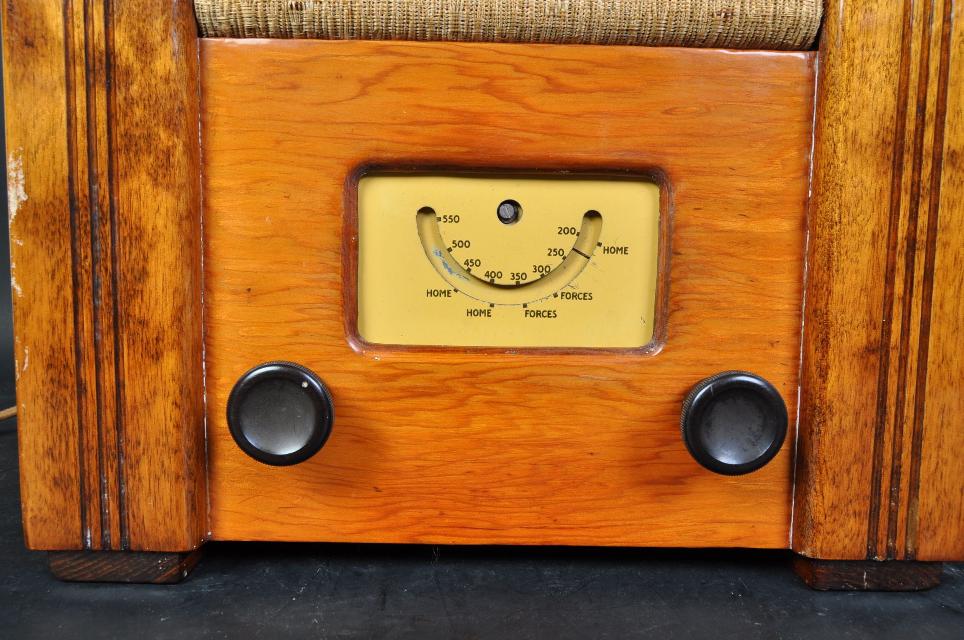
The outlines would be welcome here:
[[[201,560],[193,551],[50,551],[50,573],[68,582],[180,582]]]

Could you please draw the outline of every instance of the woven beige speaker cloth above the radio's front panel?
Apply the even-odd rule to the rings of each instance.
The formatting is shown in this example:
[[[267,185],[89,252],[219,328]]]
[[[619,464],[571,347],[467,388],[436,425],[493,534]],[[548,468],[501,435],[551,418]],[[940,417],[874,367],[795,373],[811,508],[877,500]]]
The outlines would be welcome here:
[[[201,35],[805,49],[822,0],[195,0]]]

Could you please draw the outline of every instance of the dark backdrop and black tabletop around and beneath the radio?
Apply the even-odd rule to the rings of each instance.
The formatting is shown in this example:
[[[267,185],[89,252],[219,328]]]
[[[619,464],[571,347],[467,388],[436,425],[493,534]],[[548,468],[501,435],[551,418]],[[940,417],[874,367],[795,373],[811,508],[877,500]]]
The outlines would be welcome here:
[[[0,281],[9,269],[4,240]],[[3,284],[0,409],[13,403]],[[828,594],[775,551],[214,543],[179,585],[65,583],[23,547],[18,493],[11,418],[0,422],[0,638],[964,638],[962,563],[927,592]]]

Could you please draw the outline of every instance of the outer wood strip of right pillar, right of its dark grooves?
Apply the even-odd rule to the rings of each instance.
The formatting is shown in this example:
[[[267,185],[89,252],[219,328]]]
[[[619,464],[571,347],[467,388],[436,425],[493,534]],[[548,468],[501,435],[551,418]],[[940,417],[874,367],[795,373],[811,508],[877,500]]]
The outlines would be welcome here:
[[[935,132],[926,200],[932,280],[925,294],[927,376],[917,388],[926,420],[915,442],[921,451],[916,542],[909,536],[921,560],[964,558],[964,2],[942,7],[940,15],[932,38],[940,41],[936,69],[944,80],[935,101],[946,111],[935,114],[944,123],[943,145]]]

